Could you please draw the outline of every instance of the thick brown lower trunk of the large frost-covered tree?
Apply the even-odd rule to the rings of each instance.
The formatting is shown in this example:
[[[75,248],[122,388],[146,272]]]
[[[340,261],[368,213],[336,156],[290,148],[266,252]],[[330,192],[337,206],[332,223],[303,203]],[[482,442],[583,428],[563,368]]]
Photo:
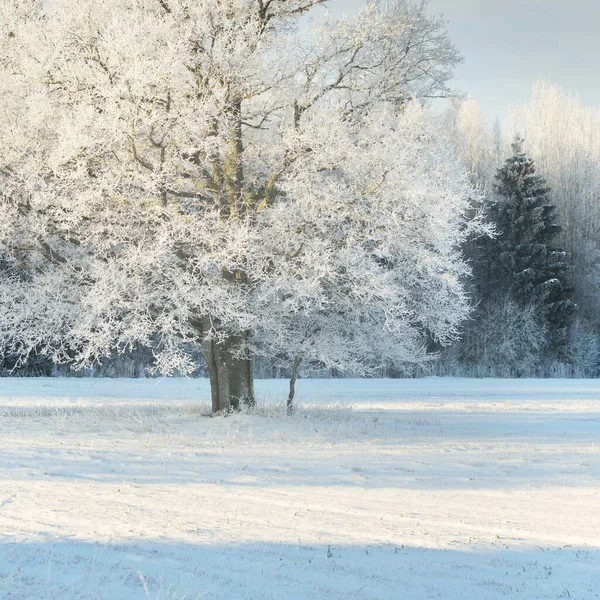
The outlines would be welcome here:
[[[210,328],[203,327],[204,335]],[[202,341],[202,353],[210,377],[213,414],[238,410],[242,405],[254,406],[252,357],[239,358],[235,351],[249,334],[229,335],[223,340],[208,337]]]

